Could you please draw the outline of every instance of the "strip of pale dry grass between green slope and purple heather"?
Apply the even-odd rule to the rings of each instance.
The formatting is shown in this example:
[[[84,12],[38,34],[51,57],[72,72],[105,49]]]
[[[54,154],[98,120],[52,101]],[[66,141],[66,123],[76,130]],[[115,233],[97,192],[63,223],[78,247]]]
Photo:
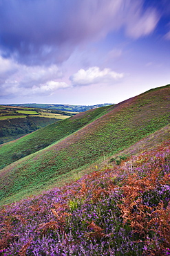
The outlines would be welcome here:
[[[142,154],[146,150],[153,150],[156,149],[157,147],[160,147],[160,145],[164,143],[164,141],[166,140],[170,140],[170,125],[163,127],[162,129],[156,131],[153,134],[150,134],[149,136],[143,138],[134,145],[131,145],[129,148],[118,152],[114,156],[106,157],[105,155],[103,155],[101,158],[99,158],[91,165],[83,165],[83,167],[71,170],[70,172],[56,175],[52,180],[46,181],[43,184],[37,183],[36,188],[34,188],[34,190],[32,190],[32,188],[25,188],[18,192],[17,194],[13,194],[12,196],[8,196],[8,198],[4,198],[0,202],[0,205],[6,203],[13,203],[14,201],[19,201],[21,199],[24,199],[25,196],[41,194],[44,190],[49,190],[55,187],[60,188],[61,186],[67,183],[77,181],[86,174],[95,172],[96,170],[104,170],[106,166],[112,167],[113,165],[117,164],[117,161],[112,161],[112,158],[115,158],[116,160],[120,158],[127,160],[129,159],[129,157],[138,156],[138,154]],[[122,163],[122,161],[120,161],[120,163]],[[118,167],[120,163],[118,163]]]

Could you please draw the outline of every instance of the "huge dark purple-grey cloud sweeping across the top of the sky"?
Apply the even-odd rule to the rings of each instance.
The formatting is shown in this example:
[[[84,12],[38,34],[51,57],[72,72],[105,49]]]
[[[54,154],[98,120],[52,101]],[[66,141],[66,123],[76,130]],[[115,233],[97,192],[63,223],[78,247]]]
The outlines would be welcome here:
[[[158,23],[155,8],[142,0],[0,0],[3,57],[25,65],[59,64],[77,46],[121,27],[129,37],[149,35]]]

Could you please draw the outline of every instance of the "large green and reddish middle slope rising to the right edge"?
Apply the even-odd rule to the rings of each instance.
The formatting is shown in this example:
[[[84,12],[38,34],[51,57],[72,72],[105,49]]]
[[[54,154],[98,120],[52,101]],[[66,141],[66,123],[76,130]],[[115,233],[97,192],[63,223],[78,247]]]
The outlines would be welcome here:
[[[58,143],[12,163],[0,173],[1,199],[46,189],[66,172],[116,154],[168,125],[169,99],[169,85],[142,93],[110,107],[105,115]]]

